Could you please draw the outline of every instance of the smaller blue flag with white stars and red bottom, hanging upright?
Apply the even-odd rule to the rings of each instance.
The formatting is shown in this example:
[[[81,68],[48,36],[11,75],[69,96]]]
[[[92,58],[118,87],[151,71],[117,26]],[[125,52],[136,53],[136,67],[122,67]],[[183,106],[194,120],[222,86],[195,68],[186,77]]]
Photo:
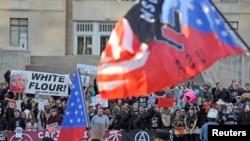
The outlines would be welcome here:
[[[59,141],[80,141],[88,126],[87,111],[79,71],[76,71],[72,83],[72,89],[63,116]]]

